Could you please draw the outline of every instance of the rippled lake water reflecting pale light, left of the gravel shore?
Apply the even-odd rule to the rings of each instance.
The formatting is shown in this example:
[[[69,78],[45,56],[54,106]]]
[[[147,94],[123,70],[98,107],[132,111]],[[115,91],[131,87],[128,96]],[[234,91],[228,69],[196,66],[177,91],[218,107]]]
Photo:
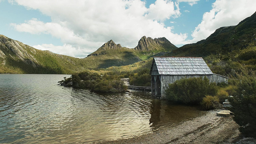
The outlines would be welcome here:
[[[203,115],[141,92],[98,94],[63,87],[70,75],[0,74],[0,143],[115,140]]]

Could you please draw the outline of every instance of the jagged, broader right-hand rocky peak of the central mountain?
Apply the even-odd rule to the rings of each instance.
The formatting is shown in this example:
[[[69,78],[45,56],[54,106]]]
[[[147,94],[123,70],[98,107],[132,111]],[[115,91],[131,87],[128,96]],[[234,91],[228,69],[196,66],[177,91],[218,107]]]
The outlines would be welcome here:
[[[154,50],[171,50],[176,49],[177,47],[168,41],[165,37],[154,38],[143,36],[138,45],[134,48],[135,50],[140,51],[154,51]]]

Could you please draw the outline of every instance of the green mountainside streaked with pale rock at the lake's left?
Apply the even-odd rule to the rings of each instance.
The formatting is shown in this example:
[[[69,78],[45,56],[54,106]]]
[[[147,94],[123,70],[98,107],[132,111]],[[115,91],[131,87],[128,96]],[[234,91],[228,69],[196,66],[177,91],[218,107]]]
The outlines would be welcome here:
[[[0,35],[0,73],[70,74],[84,66],[83,59],[38,50]]]

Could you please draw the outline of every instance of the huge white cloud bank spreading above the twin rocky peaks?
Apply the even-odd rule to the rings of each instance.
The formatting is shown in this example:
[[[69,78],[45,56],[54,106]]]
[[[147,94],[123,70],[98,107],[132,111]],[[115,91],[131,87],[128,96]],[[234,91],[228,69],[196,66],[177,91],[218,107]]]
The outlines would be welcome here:
[[[60,38],[63,44],[87,49],[88,53],[94,52],[110,39],[122,46],[134,48],[142,36],[166,37],[173,44],[184,43],[187,38],[187,34],[175,34],[172,32],[173,27],[164,25],[164,20],[180,15],[178,3],[171,0],[156,0],[149,8],[140,0],[15,2],[28,9],[39,10],[52,19],[47,23],[31,19],[25,23],[11,24],[16,30],[50,34]]]

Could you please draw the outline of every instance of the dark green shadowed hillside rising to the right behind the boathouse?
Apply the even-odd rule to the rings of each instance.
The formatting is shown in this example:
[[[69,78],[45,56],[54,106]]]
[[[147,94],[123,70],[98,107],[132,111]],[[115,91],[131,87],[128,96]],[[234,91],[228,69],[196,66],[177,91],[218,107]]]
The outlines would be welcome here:
[[[254,45],[256,35],[256,12],[236,26],[221,27],[204,40],[195,44],[186,44],[168,55],[209,56],[240,51]]]

